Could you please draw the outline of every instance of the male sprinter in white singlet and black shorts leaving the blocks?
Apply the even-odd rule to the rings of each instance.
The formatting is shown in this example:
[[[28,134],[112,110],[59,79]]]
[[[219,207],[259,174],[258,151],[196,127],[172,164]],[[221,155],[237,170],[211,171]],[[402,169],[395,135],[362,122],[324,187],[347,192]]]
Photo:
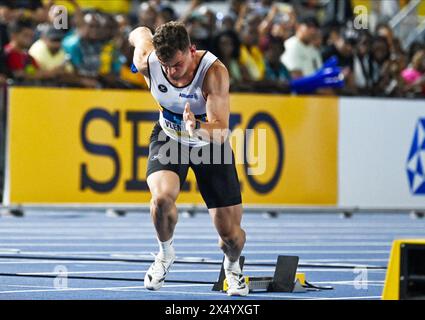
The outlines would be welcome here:
[[[135,47],[133,63],[149,83],[151,94],[160,106],[159,121],[150,138],[147,168],[152,194],[150,212],[160,252],[146,273],[145,287],[159,290],[174,262],[175,202],[190,167],[220,236],[229,284],[227,294],[246,296],[249,288],[239,266],[245,232],[240,226],[242,199],[233,153],[230,164],[183,161],[183,153],[180,157],[182,149],[186,150],[185,154],[193,151],[213,154],[217,149],[230,148],[227,69],[212,53],[197,51],[181,23],[166,23],[154,35],[148,28],[137,28],[129,41]],[[177,163],[163,163],[161,160],[167,156],[164,150],[175,149],[161,147],[173,143],[178,147],[175,153],[179,159]]]

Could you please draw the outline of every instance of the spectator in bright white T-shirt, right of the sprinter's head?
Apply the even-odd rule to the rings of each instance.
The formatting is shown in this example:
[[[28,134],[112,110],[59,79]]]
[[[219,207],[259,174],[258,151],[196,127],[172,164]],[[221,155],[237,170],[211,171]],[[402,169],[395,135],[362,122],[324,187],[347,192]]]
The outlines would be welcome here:
[[[320,52],[312,45],[318,29],[317,19],[304,18],[299,22],[295,36],[285,41],[286,50],[281,61],[291,72],[292,78],[311,75],[322,67]]]

